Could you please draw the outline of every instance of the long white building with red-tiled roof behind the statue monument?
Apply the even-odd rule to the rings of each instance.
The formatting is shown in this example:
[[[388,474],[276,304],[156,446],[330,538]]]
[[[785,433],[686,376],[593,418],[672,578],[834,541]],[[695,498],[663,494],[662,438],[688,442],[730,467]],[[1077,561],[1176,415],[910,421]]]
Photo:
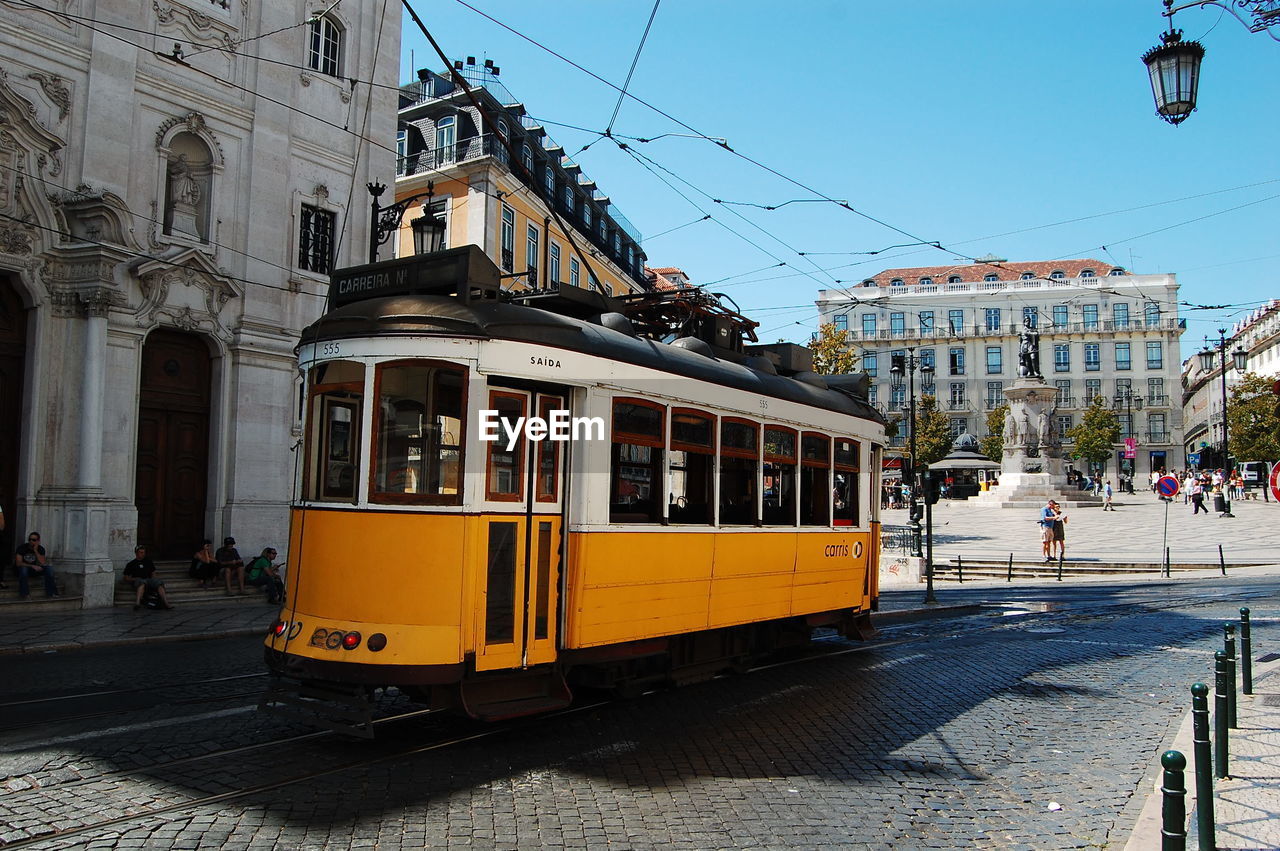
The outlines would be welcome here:
[[[1018,378],[1018,334],[1030,320],[1062,434],[1101,395],[1121,424],[1110,471],[1143,481],[1185,463],[1172,274],[1139,275],[1093,258],[980,257],[886,269],[849,289],[819,290],[817,305],[822,322],[849,331],[872,375],[872,401],[891,413],[906,410],[908,388],[890,375],[890,358],[914,351],[934,369],[916,375],[916,392],[938,398],[954,433],[987,434],[987,413]],[[1133,459],[1124,457],[1125,438],[1137,441]]]

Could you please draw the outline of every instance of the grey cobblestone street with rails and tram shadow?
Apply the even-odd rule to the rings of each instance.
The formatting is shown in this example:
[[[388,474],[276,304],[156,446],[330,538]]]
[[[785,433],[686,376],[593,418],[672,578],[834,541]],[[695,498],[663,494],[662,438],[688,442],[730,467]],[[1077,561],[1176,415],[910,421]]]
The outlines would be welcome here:
[[[83,704],[68,720],[5,706],[0,841],[1119,847],[1189,685],[1210,676],[1222,619],[1244,600],[1254,648],[1280,645],[1275,586],[1233,582],[1215,587],[1220,599],[1151,586],[1110,607],[1091,591],[1080,608],[909,623],[865,645],[824,642],[840,655],[631,703],[588,699],[509,728],[397,722],[372,745],[282,741],[307,731],[252,710],[262,683],[252,639],[9,656],[0,674],[28,683],[28,700],[51,690],[35,691],[36,671],[65,692],[91,667],[110,690],[140,653],[160,654],[155,671],[174,673],[155,676],[175,685],[106,717]],[[178,685],[206,668],[220,681]],[[108,823],[120,816],[136,818]],[[54,829],[78,832],[38,838]]]

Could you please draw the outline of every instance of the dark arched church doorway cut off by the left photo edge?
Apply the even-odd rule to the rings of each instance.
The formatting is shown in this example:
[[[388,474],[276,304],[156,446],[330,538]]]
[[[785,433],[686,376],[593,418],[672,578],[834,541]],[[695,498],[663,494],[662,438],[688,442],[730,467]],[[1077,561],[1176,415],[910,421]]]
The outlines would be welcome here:
[[[0,505],[5,531],[0,553],[13,553],[18,522],[18,457],[22,450],[22,380],[27,361],[27,311],[9,278],[0,275]],[[3,572],[0,572],[3,575]]]

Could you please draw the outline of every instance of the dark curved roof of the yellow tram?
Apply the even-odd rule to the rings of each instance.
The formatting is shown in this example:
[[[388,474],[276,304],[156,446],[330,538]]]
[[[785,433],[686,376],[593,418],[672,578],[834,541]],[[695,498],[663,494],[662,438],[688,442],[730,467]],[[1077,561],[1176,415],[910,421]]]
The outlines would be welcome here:
[[[772,375],[658,340],[631,337],[593,321],[539,307],[453,296],[401,294],[335,307],[302,331],[301,344],[358,337],[466,337],[532,343],[581,352],[672,376],[708,381],[776,399],[883,424],[867,401],[805,381]]]

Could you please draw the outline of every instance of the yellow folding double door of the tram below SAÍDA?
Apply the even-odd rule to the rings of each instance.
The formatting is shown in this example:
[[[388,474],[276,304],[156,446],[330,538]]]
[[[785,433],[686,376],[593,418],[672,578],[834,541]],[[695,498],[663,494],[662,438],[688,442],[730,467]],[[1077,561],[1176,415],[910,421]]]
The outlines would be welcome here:
[[[489,408],[515,426],[564,408],[561,395],[490,389]],[[488,444],[485,499],[503,509],[485,514],[484,623],[476,671],[556,660],[556,610],[562,546],[563,449],[558,440],[520,440],[507,429]]]

